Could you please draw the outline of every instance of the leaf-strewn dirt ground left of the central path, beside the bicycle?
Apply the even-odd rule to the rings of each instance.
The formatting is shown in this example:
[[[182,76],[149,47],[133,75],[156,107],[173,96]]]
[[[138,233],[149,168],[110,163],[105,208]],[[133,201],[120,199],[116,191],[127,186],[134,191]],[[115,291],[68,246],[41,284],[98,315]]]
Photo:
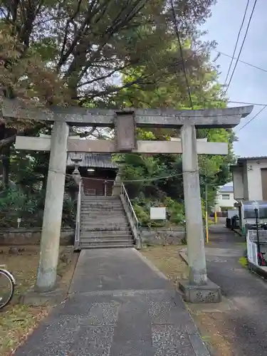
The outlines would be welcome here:
[[[39,246],[19,246],[19,253],[9,253],[8,246],[1,246],[0,265],[16,279],[16,290],[11,304],[0,311],[0,355],[12,355],[16,347],[36,328],[51,307],[31,307],[19,304],[19,296],[34,286],[39,260]],[[63,248],[61,248],[62,251]],[[2,252],[3,251],[3,252]],[[58,269],[65,269],[62,283],[66,286],[72,278],[72,266],[60,262]]]

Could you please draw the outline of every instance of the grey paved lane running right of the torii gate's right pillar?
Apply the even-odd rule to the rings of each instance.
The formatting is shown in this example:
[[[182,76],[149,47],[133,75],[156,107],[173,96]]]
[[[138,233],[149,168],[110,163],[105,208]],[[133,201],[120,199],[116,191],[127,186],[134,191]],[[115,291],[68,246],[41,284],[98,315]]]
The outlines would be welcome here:
[[[208,276],[234,305],[229,311],[214,313],[214,323],[230,343],[231,355],[266,356],[267,282],[239,263],[246,248],[240,244],[244,241],[241,236],[224,226],[214,226],[209,237]]]

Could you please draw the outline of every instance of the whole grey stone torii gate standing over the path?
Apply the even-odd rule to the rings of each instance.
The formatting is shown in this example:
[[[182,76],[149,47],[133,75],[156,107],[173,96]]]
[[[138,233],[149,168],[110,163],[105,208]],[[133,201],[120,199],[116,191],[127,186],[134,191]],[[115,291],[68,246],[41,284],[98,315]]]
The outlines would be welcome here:
[[[67,152],[182,153],[189,260],[189,281],[182,288],[188,301],[218,301],[219,288],[212,285],[206,276],[197,155],[227,155],[228,144],[197,141],[196,128],[235,127],[241,117],[246,117],[252,109],[253,106],[182,111],[85,108],[51,108],[42,111],[27,110],[14,101],[6,101],[2,108],[2,115],[6,120],[37,119],[53,123],[51,139],[16,138],[18,150],[51,151],[36,290],[44,292],[53,290],[56,286]],[[68,139],[68,127],[71,125],[115,127],[115,140]],[[137,141],[135,127],[181,128],[182,140]]]

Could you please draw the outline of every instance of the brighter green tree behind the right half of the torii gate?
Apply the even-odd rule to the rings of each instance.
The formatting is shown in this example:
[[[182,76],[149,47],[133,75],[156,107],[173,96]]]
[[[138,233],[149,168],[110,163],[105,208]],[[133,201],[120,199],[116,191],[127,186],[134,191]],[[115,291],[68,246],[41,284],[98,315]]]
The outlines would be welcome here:
[[[189,42],[188,42],[189,43]],[[189,53],[188,43],[185,42],[185,58]],[[176,51],[172,46],[172,51]],[[192,52],[192,48],[191,48]],[[188,73],[190,88],[192,89],[192,101],[194,108],[224,108],[226,100],[221,100],[222,91],[219,85],[216,68],[211,66],[206,48],[202,53],[201,70],[196,73]],[[200,60],[200,59],[199,59]],[[193,68],[193,67],[191,67]],[[140,68],[145,71],[146,68]],[[196,68],[197,70],[197,68]],[[193,70],[194,72],[194,70]],[[130,73],[132,75],[137,75]],[[127,81],[127,78],[125,78]],[[177,108],[177,110],[190,110],[187,87],[184,82],[182,68],[174,73],[166,71],[166,76],[159,83],[150,85],[132,85],[131,88],[120,91],[116,98],[112,98],[112,105],[135,106],[140,108]],[[118,103],[118,104],[117,104]],[[109,103],[110,105],[110,103]],[[177,137],[179,130],[139,130],[139,135],[146,140],[169,140],[169,137]],[[199,177],[201,183],[201,195],[204,198],[205,185],[208,184],[209,204],[214,204],[216,189],[230,180],[229,164],[234,162],[233,142],[235,140],[232,130],[202,129],[197,130],[198,138],[206,138],[209,142],[227,142],[229,155],[211,156],[199,155]],[[137,183],[127,184],[133,199],[166,199],[170,197],[176,201],[183,201],[182,187],[182,157],[181,155],[155,155],[142,157],[142,164],[136,164],[138,159],[133,155],[127,155],[122,159],[124,164],[124,179],[138,179]],[[147,167],[157,167],[151,174]],[[159,172],[159,174],[158,174]],[[163,172],[163,175],[161,175]],[[166,177],[152,181],[152,177]],[[148,180],[146,180],[148,179]],[[149,189],[147,189],[147,186]],[[141,200],[142,200],[141,199]]]

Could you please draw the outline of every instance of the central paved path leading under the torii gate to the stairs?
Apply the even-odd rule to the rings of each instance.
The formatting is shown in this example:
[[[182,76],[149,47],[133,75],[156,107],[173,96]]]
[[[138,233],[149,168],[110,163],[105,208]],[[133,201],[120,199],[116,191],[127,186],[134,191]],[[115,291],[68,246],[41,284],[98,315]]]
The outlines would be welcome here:
[[[182,298],[133,248],[80,253],[68,299],[16,356],[207,356]]]

